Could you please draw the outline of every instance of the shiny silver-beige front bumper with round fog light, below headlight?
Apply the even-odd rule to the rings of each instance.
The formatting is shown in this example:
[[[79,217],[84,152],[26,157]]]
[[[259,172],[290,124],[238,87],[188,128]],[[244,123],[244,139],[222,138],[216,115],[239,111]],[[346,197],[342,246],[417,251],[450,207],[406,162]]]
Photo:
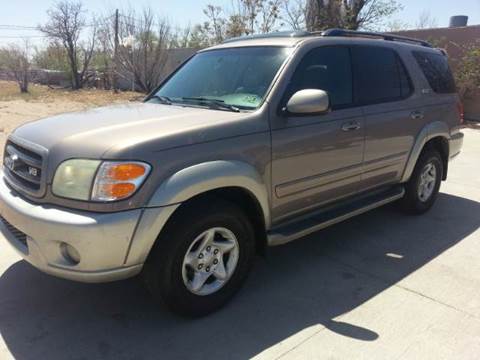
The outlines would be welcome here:
[[[138,274],[143,262],[132,264],[127,254],[141,214],[141,209],[94,213],[33,204],[9,188],[0,171],[0,233],[25,260],[51,275],[106,282]],[[78,263],[65,256],[62,244],[76,249]]]

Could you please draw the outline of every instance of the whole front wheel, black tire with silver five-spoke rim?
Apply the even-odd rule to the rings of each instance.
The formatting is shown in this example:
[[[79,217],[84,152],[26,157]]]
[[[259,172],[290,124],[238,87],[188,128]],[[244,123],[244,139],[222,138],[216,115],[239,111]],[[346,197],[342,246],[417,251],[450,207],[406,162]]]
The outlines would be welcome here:
[[[199,317],[221,308],[244,283],[255,256],[254,231],[245,213],[222,199],[208,198],[184,206],[160,234],[142,275],[151,293],[171,311]],[[207,252],[205,244],[212,232],[214,240],[210,240],[211,249]],[[237,250],[234,247],[228,253],[219,247],[227,249],[232,244],[238,245]],[[195,262],[195,266],[190,262]],[[220,271],[220,262],[225,271]],[[226,281],[217,279],[219,273],[228,275],[229,269],[233,271]],[[205,285],[192,289],[195,276],[204,279],[207,270],[211,276]]]

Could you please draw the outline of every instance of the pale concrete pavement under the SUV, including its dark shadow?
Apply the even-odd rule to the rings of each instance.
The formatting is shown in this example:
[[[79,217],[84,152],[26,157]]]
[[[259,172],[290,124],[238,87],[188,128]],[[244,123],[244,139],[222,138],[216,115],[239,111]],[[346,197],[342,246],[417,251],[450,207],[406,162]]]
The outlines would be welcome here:
[[[135,280],[44,275],[0,238],[0,358],[478,359],[480,131],[465,134],[428,214],[388,206],[271,249],[199,320]]]

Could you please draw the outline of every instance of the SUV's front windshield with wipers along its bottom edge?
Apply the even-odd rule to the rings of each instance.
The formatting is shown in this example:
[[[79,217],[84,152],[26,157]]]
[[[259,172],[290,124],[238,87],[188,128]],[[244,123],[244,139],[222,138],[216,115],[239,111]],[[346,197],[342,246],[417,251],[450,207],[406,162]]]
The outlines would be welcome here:
[[[244,47],[198,53],[151,99],[235,111],[256,109],[290,51]]]

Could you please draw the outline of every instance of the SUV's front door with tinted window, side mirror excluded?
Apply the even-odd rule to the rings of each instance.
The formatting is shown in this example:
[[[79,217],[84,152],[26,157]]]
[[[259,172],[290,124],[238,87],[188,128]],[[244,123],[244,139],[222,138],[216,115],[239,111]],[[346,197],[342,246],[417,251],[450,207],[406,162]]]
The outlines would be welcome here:
[[[364,118],[353,107],[350,50],[323,46],[299,63],[284,104],[303,89],[325,90],[327,114],[279,114],[272,123],[272,220],[288,219],[355,194],[361,181]]]

